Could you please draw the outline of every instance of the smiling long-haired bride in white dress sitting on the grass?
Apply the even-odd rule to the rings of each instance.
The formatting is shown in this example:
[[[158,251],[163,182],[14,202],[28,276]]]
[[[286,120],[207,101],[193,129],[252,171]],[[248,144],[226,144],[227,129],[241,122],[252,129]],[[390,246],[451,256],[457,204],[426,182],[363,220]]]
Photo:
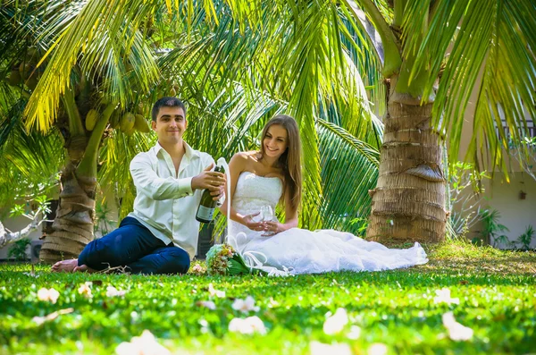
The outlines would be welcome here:
[[[297,228],[301,148],[296,121],[286,115],[272,118],[264,126],[261,142],[260,151],[237,153],[230,160],[230,211],[224,203],[222,212],[229,217],[230,244],[258,259],[265,271],[292,275],[378,271],[428,261],[417,242],[410,249],[389,249],[348,232]],[[274,211],[278,203],[285,208],[284,223],[275,217],[259,220],[261,210]]]

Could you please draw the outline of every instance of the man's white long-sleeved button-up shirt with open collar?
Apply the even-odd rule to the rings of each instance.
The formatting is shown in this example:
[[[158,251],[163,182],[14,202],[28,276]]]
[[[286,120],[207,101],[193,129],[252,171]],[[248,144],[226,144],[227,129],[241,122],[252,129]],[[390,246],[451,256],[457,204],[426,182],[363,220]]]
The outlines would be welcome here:
[[[129,216],[165,244],[173,242],[194,258],[199,237],[196,213],[203,190],[192,191],[192,177],[202,173],[214,159],[186,142],[184,148],[179,173],[175,173],[172,156],[158,142],[132,159],[130,173],[138,194]]]

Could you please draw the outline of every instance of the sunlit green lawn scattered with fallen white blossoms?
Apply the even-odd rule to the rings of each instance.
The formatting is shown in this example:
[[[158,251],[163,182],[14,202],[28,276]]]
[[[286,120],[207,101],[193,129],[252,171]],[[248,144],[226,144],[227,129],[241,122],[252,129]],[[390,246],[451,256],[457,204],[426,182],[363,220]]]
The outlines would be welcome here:
[[[172,353],[309,353],[311,342],[347,343],[366,354],[376,342],[388,353],[528,353],[536,350],[536,255],[476,248],[462,241],[425,246],[424,266],[375,273],[302,275],[289,278],[207,275],[61,275],[37,266],[0,266],[0,353],[110,354],[120,342],[148,329]],[[93,281],[93,297],[79,294]],[[208,284],[226,292],[211,298]],[[107,297],[106,286],[127,290]],[[57,303],[38,300],[40,288],[60,292]],[[433,301],[447,287],[459,305]],[[235,298],[255,298],[264,335],[228,330]],[[214,300],[215,310],[196,305]],[[72,308],[42,325],[32,321]],[[344,308],[349,323],[339,334],[322,331],[326,313]],[[473,339],[448,337],[441,316],[473,329]],[[351,325],[361,334],[348,339]]]

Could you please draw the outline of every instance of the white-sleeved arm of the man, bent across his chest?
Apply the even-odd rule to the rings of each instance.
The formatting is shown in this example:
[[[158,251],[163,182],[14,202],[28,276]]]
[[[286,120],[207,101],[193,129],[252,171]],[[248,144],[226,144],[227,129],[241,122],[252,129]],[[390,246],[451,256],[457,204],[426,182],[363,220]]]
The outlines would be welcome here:
[[[130,163],[134,185],[151,199],[179,199],[191,195],[192,178],[175,179],[159,177],[145,156],[136,156]]]

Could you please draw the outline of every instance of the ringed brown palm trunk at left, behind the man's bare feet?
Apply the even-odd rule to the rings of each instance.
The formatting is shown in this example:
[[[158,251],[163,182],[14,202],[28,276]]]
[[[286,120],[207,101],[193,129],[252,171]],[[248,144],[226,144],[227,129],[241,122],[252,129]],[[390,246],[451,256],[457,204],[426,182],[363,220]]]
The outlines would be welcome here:
[[[96,178],[78,176],[69,163],[62,173],[63,189],[52,228],[46,236],[39,258],[53,263],[66,258],[78,258],[93,241]]]

